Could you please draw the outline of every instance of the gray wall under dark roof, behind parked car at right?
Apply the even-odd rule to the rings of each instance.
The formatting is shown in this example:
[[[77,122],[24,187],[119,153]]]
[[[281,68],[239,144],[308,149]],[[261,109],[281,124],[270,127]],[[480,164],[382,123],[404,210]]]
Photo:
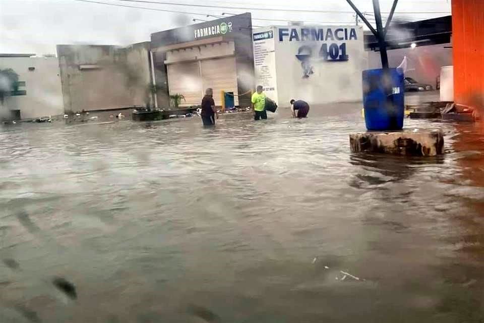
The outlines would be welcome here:
[[[436,78],[440,75],[442,66],[452,65],[451,44],[430,45],[412,48],[388,50],[388,63],[390,67],[397,67],[407,57],[407,71],[405,76],[417,82],[426,83],[436,87]],[[370,69],[381,69],[382,61],[379,51],[368,52]]]

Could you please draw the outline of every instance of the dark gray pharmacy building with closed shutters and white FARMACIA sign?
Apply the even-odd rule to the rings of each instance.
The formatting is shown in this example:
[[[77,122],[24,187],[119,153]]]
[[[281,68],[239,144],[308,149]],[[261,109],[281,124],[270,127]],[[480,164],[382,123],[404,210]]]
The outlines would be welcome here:
[[[235,105],[249,106],[254,89],[254,53],[250,13],[156,32],[151,51],[157,100],[170,106],[170,95],[183,94],[181,106],[198,105],[206,88],[231,92]]]

